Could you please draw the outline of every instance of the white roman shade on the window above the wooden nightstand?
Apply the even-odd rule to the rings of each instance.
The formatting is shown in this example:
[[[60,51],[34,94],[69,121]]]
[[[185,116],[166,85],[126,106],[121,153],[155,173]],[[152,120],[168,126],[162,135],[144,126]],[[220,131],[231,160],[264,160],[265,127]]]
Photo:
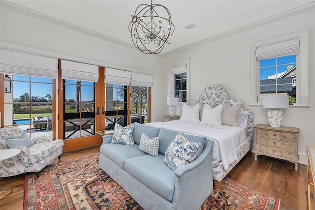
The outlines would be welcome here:
[[[256,48],[256,59],[263,60],[280,56],[299,54],[299,39],[291,39]]]

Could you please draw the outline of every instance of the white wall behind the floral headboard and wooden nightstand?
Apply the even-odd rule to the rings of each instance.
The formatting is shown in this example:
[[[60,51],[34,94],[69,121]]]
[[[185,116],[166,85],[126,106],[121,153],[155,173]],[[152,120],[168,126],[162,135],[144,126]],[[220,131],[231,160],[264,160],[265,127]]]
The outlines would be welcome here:
[[[193,30],[193,29],[192,29]],[[309,31],[309,105],[284,110],[283,126],[299,127],[300,162],[306,163],[306,146],[315,146],[315,11],[185,49],[164,58],[167,64],[190,59],[190,100],[208,85],[221,85],[230,97],[240,100],[253,113],[253,122],[268,124],[267,109],[250,104],[250,45],[297,31]],[[167,75],[165,73],[165,75]],[[166,78],[165,78],[166,79]],[[166,110],[165,110],[166,112]]]

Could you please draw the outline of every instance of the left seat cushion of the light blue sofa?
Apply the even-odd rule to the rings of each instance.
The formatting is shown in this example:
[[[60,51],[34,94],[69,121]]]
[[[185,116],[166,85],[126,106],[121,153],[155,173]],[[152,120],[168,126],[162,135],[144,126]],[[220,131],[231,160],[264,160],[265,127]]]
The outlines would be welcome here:
[[[124,169],[126,159],[147,154],[139,150],[139,145],[121,144],[103,144],[100,147],[100,153],[111,159],[122,169]]]

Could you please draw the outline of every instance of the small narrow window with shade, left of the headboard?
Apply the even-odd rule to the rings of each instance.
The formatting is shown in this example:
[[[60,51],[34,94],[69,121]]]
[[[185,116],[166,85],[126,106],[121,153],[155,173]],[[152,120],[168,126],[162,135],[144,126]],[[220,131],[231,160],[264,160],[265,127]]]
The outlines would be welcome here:
[[[169,65],[170,96],[178,97],[179,102],[189,101],[189,60],[183,60]]]

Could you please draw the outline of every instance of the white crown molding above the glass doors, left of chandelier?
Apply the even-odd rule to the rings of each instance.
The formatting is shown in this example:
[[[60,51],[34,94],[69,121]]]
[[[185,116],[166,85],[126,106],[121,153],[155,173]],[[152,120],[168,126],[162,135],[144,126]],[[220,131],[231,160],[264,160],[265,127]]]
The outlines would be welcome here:
[[[32,16],[32,17],[40,19],[40,20],[44,20],[44,21],[47,21],[47,22],[71,29],[71,30],[76,30],[78,32],[85,33],[87,35],[94,36],[96,38],[100,38],[100,39],[103,39],[103,40],[106,40],[106,41],[109,41],[109,42],[112,42],[112,43],[115,43],[118,45],[122,45],[122,46],[134,49],[134,45],[130,44],[128,42],[116,39],[112,36],[105,35],[103,33],[97,32],[97,31],[89,29],[89,28],[85,28],[85,27],[76,25],[74,23],[71,23],[71,22],[62,20],[60,18],[45,14],[43,12],[33,10],[31,8],[22,6],[20,4],[17,4],[17,3],[11,2],[11,1],[1,0],[0,6],[7,8],[7,9],[10,9],[10,10],[13,10],[13,11],[16,11],[16,12],[19,12],[19,13],[22,13],[22,14],[25,14],[25,15],[28,15],[28,16]]]

